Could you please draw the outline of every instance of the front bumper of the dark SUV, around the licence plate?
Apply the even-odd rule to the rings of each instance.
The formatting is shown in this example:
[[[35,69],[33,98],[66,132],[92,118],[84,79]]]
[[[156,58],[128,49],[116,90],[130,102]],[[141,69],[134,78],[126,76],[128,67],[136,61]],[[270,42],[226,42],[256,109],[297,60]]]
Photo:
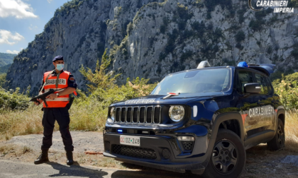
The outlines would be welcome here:
[[[181,141],[177,140],[176,134],[157,136],[125,133],[125,135],[140,136],[140,147],[120,145],[120,135],[120,133],[104,134],[104,156],[162,170],[182,173],[185,170],[192,170],[194,174],[202,174],[211,155],[211,151],[207,150],[209,145],[207,136],[195,136],[192,150],[186,151]],[[114,149],[115,146],[117,151]],[[132,153],[122,154],[121,149],[131,149]],[[145,154],[152,155],[153,152],[154,157],[145,157]],[[144,154],[144,157],[134,157],[133,154]]]

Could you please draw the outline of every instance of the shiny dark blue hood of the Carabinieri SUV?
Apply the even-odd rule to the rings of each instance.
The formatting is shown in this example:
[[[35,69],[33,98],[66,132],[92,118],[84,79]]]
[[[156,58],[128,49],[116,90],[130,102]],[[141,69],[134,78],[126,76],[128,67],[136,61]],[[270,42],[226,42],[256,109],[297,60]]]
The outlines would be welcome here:
[[[225,95],[225,93],[196,93],[198,95],[195,95],[193,93],[191,94],[180,94],[177,96],[171,96],[167,97],[166,99],[162,99],[166,95],[148,95],[145,97],[136,97],[131,100],[124,100],[121,102],[116,102],[111,105],[111,107],[116,106],[131,106],[131,105],[169,105],[169,104],[175,104],[175,105],[184,105],[187,102],[191,100],[207,100],[211,97],[221,96]]]

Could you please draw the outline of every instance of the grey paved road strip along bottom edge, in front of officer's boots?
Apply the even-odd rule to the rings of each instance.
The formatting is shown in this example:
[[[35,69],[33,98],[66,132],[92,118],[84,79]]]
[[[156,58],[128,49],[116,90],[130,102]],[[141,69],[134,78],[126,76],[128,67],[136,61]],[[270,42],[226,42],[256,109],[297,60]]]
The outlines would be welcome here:
[[[55,162],[47,164],[34,165],[33,163],[15,162],[10,160],[0,160],[0,178],[43,178],[43,177],[99,177],[99,178],[152,178],[158,175],[162,178],[189,177],[189,174],[177,174],[175,172],[166,172],[161,170],[116,170],[109,168],[60,165]],[[189,178],[196,176],[190,175]],[[198,178],[198,177],[196,177]]]

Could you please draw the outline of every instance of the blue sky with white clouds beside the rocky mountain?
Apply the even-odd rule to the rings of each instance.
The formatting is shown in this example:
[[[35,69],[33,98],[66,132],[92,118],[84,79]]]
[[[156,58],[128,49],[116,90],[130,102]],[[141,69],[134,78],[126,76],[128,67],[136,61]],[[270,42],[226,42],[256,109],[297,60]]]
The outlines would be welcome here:
[[[0,0],[0,52],[18,54],[70,0]]]

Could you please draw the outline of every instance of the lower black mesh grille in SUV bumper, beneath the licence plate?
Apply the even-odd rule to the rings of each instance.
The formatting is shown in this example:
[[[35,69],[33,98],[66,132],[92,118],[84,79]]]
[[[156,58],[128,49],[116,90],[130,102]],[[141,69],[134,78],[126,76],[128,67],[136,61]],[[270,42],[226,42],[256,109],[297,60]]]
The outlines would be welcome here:
[[[153,149],[139,148],[134,146],[112,145],[111,153],[150,160],[155,160],[157,158],[156,153]]]

